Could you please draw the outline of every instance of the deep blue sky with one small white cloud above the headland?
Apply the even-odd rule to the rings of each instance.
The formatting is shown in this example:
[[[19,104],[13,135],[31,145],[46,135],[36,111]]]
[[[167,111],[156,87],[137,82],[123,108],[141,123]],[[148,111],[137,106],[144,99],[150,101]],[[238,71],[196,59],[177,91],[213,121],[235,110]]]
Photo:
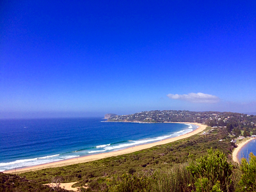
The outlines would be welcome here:
[[[0,118],[256,111],[256,1],[0,7]]]

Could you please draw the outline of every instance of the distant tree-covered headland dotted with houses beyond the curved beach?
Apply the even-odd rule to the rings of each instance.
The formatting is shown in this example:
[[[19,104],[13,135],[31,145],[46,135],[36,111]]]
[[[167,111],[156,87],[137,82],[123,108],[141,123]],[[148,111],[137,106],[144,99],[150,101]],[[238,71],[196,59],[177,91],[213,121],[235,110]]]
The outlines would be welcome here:
[[[148,122],[148,123],[164,123],[164,122],[191,122],[205,124],[209,126],[230,126],[234,127],[254,127],[256,125],[255,115],[246,115],[243,113],[218,112],[218,111],[143,111],[132,115],[116,115],[110,116],[108,122]]]

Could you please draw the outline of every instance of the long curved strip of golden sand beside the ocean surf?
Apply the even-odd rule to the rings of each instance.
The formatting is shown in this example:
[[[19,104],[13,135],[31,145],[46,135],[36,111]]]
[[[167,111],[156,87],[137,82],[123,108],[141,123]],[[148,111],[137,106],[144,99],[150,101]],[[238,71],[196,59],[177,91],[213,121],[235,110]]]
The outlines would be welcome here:
[[[173,123],[177,123],[177,122],[173,122]],[[74,158],[74,159],[66,159],[66,160],[63,160],[63,161],[56,161],[56,162],[47,163],[47,164],[40,164],[40,165],[36,165],[36,166],[20,168],[20,169],[17,169],[17,170],[6,170],[6,171],[4,171],[4,173],[31,172],[31,171],[36,171],[36,170],[42,170],[42,169],[45,169],[45,168],[54,168],[54,167],[59,167],[59,166],[67,166],[67,165],[70,165],[70,164],[84,163],[84,162],[88,162],[88,161],[95,161],[95,160],[98,160],[98,159],[104,159],[106,157],[113,157],[113,156],[120,156],[120,155],[123,155],[123,154],[129,154],[129,153],[132,153],[132,152],[143,150],[145,148],[151,148],[151,147],[154,147],[154,146],[157,146],[157,145],[164,145],[166,143],[171,143],[173,141],[188,138],[190,136],[198,134],[199,132],[204,131],[205,128],[207,127],[207,125],[196,124],[196,123],[189,123],[189,122],[179,122],[179,123],[180,124],[194,124],[194,125],[197,125],[198,128],[195,129],[194,131],[188,132],[187,134],[182,134],[182,135],[177,136],[175,138],[170,138],[170,139],[166,139],[166,140],[162,140],[162,141],[157,141],[155,143],[148,143],[148,144],[145,144],[145,145],[138,145],[138,146],[135,146],[135,147],[125,148],[123,150],[118,150],[118,151],[114,151],[114,152],[107,152],[107,153],[103,153],[103,154],[95,154],[95,155],[92,155],[92,156],[77,157],[77,158]]]

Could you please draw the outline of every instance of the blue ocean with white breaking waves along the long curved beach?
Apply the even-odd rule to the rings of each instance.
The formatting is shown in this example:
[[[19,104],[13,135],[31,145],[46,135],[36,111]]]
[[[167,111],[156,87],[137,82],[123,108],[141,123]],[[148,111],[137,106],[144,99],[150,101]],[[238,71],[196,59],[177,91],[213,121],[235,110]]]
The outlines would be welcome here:
[[[0,172],[88,156],[186,134],[190,124],[104,122],[101,118],[0,120]]]

